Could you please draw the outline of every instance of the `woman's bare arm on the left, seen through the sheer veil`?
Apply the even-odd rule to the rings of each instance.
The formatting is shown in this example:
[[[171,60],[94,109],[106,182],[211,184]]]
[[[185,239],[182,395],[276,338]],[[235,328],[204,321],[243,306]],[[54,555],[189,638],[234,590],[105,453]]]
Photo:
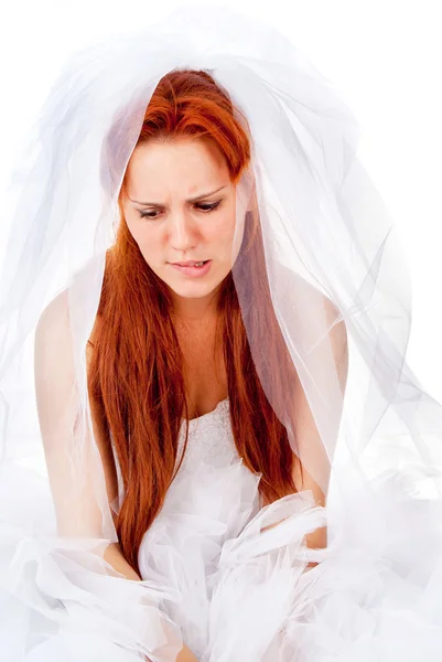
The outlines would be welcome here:
[[[62,541],[62,554],[58,558],[63,557],[63,538],[68,541],[72,538],[98,538],[105,543],[107,542],[104,552],[100,552],[99,556],[116,573],[129,579],[130,584],[138,583],[141,581],[141,578],[123,557],[119,544],[117,542],[109,543],[108,540],[108,532],[112,532],[114,520],[110,502],[118,496],[117,470],[110,444],[103,436],[99,423],[94,416],[93,407],[90,408],[90,415],[94,435],[91,436],[89,430],[78,423],[78,398],[72,350],[67,291],[64,290],[44,309],[36,325],[34,340],[37,415],[51,492],[56,511],[57,535]],[[90,354],[86,353],[87,362],[89,357]],[[77,463],[74,465],[73,457],[77,447]],[[80,487],[78,487],[78,479],[80,480]],[[78,548],[80,549],[80,545]],[[77,560],[77,558],[84,562],[86,557],[79,553],[78,557],[74,555],[74,560]],[[84,563],[86,564],[85,579],[90,580],[90,586],[95,588],[94,564],[90,560]],[[103,566],[100,569],[103,572]],[[109,581],[108,590],[111,595],[112,581],[117,578],[109,576],[108,573],[105,575],[96,574],[97,580],[103,579],[103,577]],[[130,584],[128,584],[128,588]],[[86,605],[87,609],[89,599],[91,606],[96,600],[96,604],[99,605],[101,597],[98,594],[97,598],[94,594],[86,595],[86,597],[85,595],[84,584],[82,584],[80,599],[84,600],[82,605]],[[115,595],[118,596],[117,585]],[[132,592],[128,592],[127,596],[128,599],[131,599]],[[139,599],[142,594],[137,590],[133,591],[133,596]],[[118,613],[121,606],[116,605],[115,607],[116,613]],[[71,613],[71,609],[73,607],[71,607],[68,600],[66,616]],[[148,610],[149,608],[145,608],[142,597],[140,609],[143,609],[143,613],[151,613]],[[73,613],[77,615],[78,611],[73,610]],[[93,612],[90,617],[94,618]],[[111,618],[115,618],[115,616]],[[78,627],[80,627],[80,623]],[[177,637],[176,632],[175,637]],[[172,645],[175,645],[175,642],[176,639]],[[196,658],[186,645],[183,645],[176,655],[176,661],[196,662]]]

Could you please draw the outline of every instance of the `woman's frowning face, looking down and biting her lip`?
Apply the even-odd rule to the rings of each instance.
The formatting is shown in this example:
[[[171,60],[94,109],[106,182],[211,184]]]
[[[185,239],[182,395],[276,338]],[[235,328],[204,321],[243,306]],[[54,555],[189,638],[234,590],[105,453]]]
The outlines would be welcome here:
[[[203,311],[230,271],[244,228],[236,228],[236,186],[208,139],[136,147],[121,191],[134,241],[182,311]],[[235,233],[236,231],[236,233]],[[173,263],[209,260],[193,274]]]

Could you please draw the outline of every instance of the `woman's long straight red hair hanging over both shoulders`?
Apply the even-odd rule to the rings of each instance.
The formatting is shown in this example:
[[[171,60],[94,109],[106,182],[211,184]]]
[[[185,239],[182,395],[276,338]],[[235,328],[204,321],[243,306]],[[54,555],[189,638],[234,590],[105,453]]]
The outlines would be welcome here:
[[[250,162],[248,132],[239,116],[207,72],[174,70],[161,78],[150,99],[139,142],[181,136],[211,138],[226,159],[230,180],[237,182]],[[123,499],[116,520],[119,544],[140,574],[139,546],[175,476],[181,419],[188,415],[183,355],[170,316],[168,286],[142,257],[121,201],[119,209],[116,242],[106,256],[88,386],[95,416],[121,470]],[[267,348],[272,355],[266,356],[266,365],[274,371],[272,383],[283,402],[291,391],[288,385],[293,383],[294,367],[270,298],[257,212],[246,216],[235,268],[244,270],[241,278],[247,279],[252,300],[260,302],[259,310],[250,312],[249,332],[271,339]],[[265,502],[271,503],[297,491],[292,471],[299,460],[261,387],[231,271],[222,282],[217,306],[235,445],[245,466],[262,474],[259,491]],[[187,433],[188,426],[185,445]],[[302,467],[299,469],[302,472]]]

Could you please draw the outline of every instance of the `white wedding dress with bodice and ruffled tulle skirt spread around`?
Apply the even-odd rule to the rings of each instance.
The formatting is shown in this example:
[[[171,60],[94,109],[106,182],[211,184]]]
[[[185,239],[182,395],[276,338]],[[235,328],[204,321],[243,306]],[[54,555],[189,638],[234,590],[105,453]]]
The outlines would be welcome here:
[[[22,481],[29,508],[26,477],[9,480],[4,490]],[[411,501],[396,473],[377,485],[379,515],[357,488],[345,508],[335,496],[316,506],[310,490],[262,506],[259,480],[238,457],[225,399],[190,421],[183,465],[140,545],[142,581],[99,566],[95,577],[78,541],[52,549],[44,531],[18,525],[0,545],[1,662],[140,662],[142,650],[174,660],[181,636],[200,662],[442,660],[438,501]],[[36,532],[48,521],[43,488]],[[6,493],[0,504],[10,508]],[[324,524],[326,548],[311,549],[305,534]]]

